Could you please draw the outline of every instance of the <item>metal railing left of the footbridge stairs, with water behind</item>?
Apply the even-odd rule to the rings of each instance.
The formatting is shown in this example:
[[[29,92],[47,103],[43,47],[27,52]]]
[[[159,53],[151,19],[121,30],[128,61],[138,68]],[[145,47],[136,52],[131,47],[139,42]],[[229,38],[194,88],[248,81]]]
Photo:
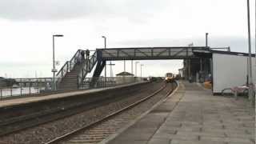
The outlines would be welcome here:
[[[0,87],[0,100],[7,97],[40,94],[50,91],[52,78],[14,78],[12,86]]]

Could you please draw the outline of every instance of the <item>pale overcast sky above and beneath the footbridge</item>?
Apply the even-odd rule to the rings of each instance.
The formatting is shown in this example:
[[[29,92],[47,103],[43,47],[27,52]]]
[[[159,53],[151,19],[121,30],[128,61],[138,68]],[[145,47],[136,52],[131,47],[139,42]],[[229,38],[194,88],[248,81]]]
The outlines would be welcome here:
[[[208,32],[210,46],[247,52],[246,22],[246,0],[0,0],[0,77],[51,77],[52,34],[64,34],[55,45],[62,66],[78,49],[101,48],[102,35],[107,47],[204,46]],[[117,74],[122,62],[114,63]],[[141,63],[145,76],[182,68],[179,60]]]

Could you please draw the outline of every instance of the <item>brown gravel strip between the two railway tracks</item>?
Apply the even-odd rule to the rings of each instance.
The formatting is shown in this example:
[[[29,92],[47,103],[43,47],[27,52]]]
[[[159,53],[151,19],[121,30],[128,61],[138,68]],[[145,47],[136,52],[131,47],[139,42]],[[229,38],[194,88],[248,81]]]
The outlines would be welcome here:
[[[104,117],[107,114],[112,113],[130,103],[145,97],[147,94],[153,93],[158,90],[162,84],[154,83],[154,86],[149,87],[149,89],[144,90],[136,96],[122,99],[118,102],[112,102],[105,106],[100,106],[92,110],[82,112],[80,114],[75,114],[68,118],[63,118],[54,122],[48,122],[46,124],[36,126],[34,128],[22,130],[21,132],[6,135],[0,138],[0,144],[9,143],[44,143],[50,141],[50,139],[61,136],[62,134],[69,133],[72,130],[78,129],[90,122],[94,122],[99,118]]]

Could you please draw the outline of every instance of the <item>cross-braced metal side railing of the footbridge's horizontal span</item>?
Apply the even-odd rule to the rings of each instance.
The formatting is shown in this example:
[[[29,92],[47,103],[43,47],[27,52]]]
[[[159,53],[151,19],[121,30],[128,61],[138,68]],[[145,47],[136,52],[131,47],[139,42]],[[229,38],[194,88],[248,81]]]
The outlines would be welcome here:
[[[122,59],[183,59],[195,58],[193,50],[209,50],[205,46],[194,47],[134,47],[97,49],[104,60]]]

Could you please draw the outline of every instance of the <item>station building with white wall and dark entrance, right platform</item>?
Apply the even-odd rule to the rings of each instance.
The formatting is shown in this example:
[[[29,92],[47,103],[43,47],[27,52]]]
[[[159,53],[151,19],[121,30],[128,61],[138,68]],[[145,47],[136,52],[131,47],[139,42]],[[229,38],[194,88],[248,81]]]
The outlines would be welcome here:
[[[199,58],[184,59],[182,73],[193,82],[212,82],[213,94],[248,84],[249,54],[222,50],[194,50]],[[255,54],[252,54],[253,82],[256,81]]]

